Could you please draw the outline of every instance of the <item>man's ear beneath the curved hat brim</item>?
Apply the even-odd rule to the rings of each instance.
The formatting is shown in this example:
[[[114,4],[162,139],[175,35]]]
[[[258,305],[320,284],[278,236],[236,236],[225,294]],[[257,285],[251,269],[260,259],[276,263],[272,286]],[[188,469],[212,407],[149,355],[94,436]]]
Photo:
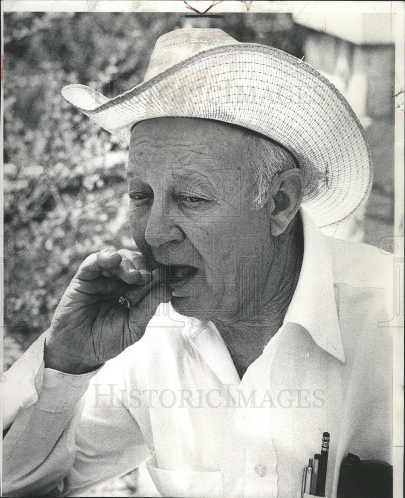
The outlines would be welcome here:
[[[269,189],[270,232],[277,237],[294,218],[304,196],[302,172],[288,169],[275,175]]]

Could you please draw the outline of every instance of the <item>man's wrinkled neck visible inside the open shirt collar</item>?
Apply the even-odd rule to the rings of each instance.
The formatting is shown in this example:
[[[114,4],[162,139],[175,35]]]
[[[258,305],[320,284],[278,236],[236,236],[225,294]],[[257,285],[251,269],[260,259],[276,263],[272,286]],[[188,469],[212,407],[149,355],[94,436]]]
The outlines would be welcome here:
[[[264,282],[260,282],[260,310],[234,321],[213,320],[224,340],[239,376],[262,353],[281,327],[294,295],[301,270],[303,244],[301,220],[274,238],[274,251]]]

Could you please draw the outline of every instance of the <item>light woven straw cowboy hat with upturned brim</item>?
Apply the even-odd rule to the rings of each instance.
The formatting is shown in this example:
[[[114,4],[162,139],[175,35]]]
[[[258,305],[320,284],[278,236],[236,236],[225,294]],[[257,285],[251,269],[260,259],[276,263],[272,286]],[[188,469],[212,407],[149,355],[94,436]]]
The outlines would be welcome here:
[[[134,124],[164,116],[218,120],[269,136],[297,159],[303,205],[319,227],[348,218],[371,189],[364,129],[336,88],[305,62],[239,43],[221,29],[162,35],[143,83],[113,99],[76,84],[62,95],[125,142]]]

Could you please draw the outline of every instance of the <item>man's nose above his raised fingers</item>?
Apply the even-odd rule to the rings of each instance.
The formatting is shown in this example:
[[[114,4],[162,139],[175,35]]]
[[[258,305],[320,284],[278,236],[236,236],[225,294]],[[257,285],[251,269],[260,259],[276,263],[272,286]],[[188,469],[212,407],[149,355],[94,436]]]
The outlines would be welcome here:
[[[145,241],[156,248],[169,242],[179,243],[184,239],[184,232],[165,211],[164,204],[154,202],[145,228]]]

